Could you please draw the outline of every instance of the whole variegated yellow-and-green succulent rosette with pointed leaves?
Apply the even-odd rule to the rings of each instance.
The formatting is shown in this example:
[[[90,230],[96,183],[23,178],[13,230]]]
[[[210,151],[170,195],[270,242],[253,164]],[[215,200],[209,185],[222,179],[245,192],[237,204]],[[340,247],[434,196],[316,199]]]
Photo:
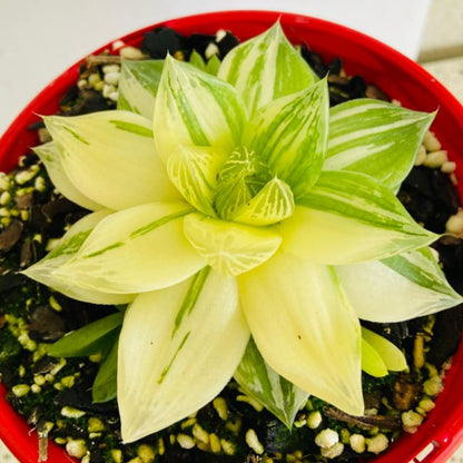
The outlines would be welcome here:
[[[365,99],[329,109],[326,80],[278,23],[217,67],[127,62],[118,110],[46,117],[52,141],[36,149],[93,213],[24,273],[128,304],[109,355],[125,442],[234,375],[288,426],[308,394],[362,414],[362,365],[405,364],[358,319],[462,301],[427,247],[437,235],[395,197],[434,115]]]

